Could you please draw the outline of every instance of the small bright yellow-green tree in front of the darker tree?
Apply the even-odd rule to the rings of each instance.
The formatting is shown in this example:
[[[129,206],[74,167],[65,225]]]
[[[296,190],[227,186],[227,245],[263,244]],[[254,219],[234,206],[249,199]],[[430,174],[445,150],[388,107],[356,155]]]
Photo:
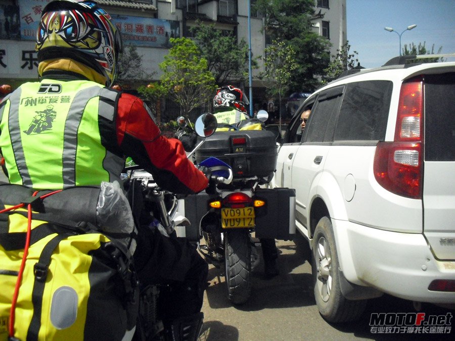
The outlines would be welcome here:
[[[207,103],[216,90],[215,79],[208,70],[207,61],[193,40],[171,38],[169,54],[160,63],[163,89],[180,106],[183,115],[189,115]]]

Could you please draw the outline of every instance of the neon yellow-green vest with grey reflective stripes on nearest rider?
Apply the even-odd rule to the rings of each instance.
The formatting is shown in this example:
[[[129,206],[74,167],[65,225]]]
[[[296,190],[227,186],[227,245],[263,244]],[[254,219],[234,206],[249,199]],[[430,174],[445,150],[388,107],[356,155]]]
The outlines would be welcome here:
[[[0,123],[10,182],[57,189],[119,181],[124,160],[103,147],[98,124],[114,121],[118,95],[90,81],[43,80],[13,92]]]

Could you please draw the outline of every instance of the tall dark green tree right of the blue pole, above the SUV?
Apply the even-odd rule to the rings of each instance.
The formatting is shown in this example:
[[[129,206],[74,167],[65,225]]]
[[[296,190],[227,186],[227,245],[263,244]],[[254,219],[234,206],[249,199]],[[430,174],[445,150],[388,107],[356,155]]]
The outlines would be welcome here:
[[[292,73],[293,91],[311,91],[320,85],[330,60],[330,41],[312,30],[314,0],[256,0],[255,9],[265,13],[265,30],[273,40],[284,41],[296,53],[298,68]]]

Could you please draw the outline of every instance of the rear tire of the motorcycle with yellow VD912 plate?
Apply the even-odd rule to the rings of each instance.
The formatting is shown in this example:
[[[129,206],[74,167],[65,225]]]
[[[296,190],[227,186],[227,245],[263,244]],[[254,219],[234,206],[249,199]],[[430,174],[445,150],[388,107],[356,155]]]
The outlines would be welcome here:
[[[224,260],[228,299],[244,304],[251,294],[251,240],[248,229],[224,232]]]

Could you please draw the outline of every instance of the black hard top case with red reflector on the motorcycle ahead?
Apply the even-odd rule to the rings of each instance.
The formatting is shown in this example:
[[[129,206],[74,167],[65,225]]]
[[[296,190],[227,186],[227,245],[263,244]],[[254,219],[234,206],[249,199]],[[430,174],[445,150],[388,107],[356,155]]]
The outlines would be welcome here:
[[[196,161],[215,157],[229,164],[234,178],[272,177],[277,166],[275,135],[267,130],[217,131],[196,151]]]

